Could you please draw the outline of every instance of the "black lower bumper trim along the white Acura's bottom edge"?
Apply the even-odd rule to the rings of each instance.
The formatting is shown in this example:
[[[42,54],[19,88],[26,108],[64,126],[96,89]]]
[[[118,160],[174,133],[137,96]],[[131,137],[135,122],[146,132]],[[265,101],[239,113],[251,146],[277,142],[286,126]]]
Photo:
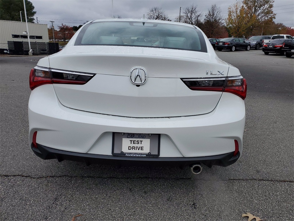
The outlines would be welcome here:
[[[240,152],[233,156],[234,152],[221,154],[216,156],[203,157],[127,157],[127,156],[111,156],[101,154],[82,154],[70,151],[56,150],[40,144],[38,148],[31,145],[34,154],[44,160],[57,159],[59,162],[63,160],[85,162],[90,164],[109,164],[116,166],[171,166],[185,167],[195,163],[202,163],[208,167],[213,165],[229,166],[235,163],[240,157]]]

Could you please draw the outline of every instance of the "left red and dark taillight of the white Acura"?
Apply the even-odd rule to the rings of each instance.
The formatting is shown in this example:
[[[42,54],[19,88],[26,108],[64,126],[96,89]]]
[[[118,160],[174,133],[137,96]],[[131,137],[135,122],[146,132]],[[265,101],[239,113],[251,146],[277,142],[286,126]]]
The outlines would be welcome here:
[[[45,67],[34,67],[30,72],[30,88],[44,84],[85,84],[95,74],[50,69]]]

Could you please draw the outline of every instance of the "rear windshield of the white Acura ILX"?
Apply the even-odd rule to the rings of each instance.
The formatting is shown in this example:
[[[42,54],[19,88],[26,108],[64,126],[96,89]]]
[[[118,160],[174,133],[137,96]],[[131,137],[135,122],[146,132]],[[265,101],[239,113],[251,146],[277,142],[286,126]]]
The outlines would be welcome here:
[[[93,22],[78,34],[75,45],[160,47],[207,52],[199,29],[153,22]]]

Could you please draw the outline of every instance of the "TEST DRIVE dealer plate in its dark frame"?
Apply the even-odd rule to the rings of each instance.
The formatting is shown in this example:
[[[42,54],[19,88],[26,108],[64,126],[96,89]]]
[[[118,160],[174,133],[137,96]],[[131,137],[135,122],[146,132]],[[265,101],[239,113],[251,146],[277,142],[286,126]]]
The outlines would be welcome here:
[[[148,140],[149,140],[149,149],[148,149]],[[133,141],[138,141],[138,143],[147,144],[146,149],[149,152],[145,152],[145,150],[127,150],[126,148],[133,145],[136,148],[142,146],[142,144],[130,144]],[[142,141],[142,142],[140,142]],[[145,147],[144,147],[145,148]],[[123,149],[125,151],[123,151]],[[160,154],[160,134],[149,134],[149,133],[112,133],[112,151],[113,156],[129,156],[129,157],[158,157]]]

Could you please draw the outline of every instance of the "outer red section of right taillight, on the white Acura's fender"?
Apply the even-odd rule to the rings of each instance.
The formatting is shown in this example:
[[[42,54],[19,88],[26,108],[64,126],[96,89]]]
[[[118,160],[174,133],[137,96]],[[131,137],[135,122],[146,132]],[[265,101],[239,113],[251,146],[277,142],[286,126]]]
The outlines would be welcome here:
[[[247,83],[245,78],[232,79],[228,77],[228,81],[225,85],[224,92],[233,93],[238,95],[243,100],[246,98],[247,94]]]

